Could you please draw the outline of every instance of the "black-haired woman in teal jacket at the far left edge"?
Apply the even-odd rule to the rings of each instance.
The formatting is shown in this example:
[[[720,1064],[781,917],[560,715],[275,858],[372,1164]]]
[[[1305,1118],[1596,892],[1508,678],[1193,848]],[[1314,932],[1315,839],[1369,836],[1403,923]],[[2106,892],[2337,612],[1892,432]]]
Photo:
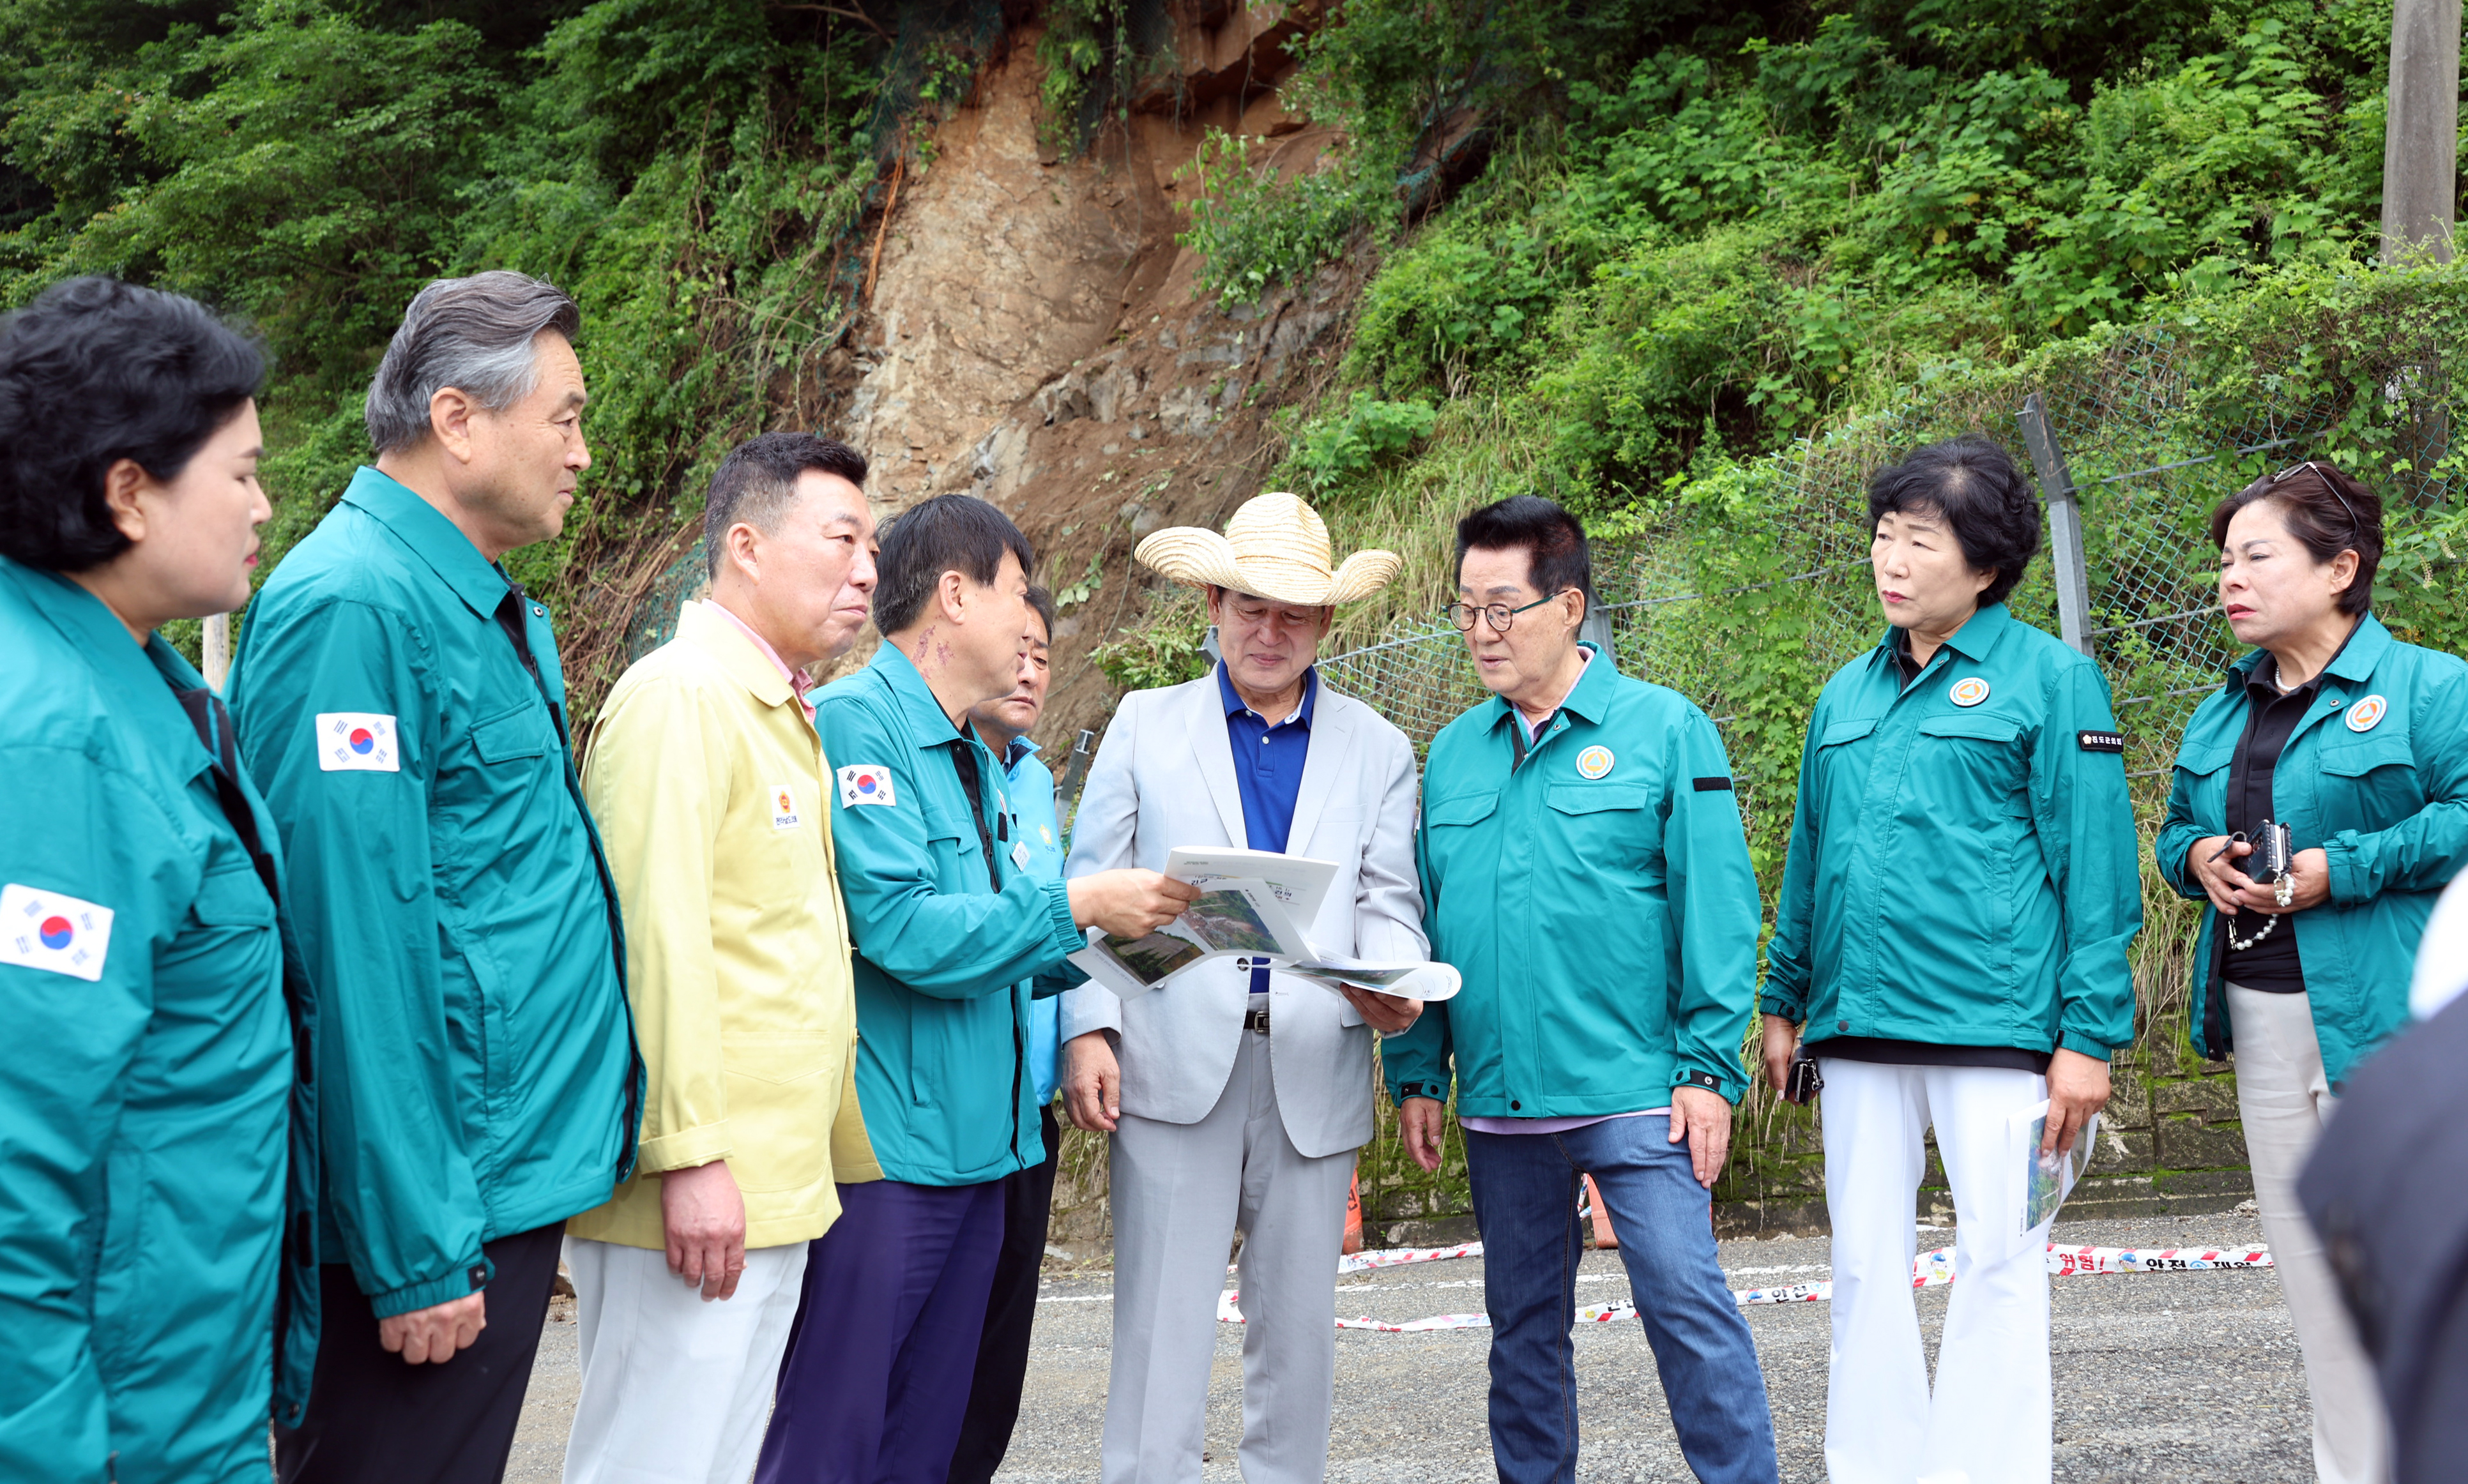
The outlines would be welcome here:
[[[308,1000],[232,721],[264,361],[74,279],[0,321],[0,1477],[237,1482],[316,1348]]]

